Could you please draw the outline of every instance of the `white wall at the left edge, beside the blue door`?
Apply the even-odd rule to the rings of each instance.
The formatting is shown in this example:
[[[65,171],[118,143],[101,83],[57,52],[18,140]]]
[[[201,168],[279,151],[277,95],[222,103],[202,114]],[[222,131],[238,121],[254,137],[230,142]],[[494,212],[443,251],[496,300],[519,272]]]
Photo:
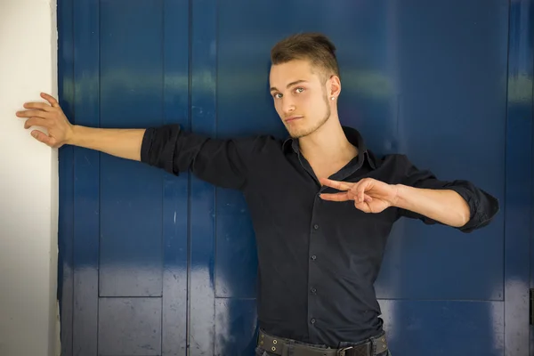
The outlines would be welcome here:
[[[0,0],[0,355],[59,354],[57,152],[15,111],[57,98],[55,0]]]

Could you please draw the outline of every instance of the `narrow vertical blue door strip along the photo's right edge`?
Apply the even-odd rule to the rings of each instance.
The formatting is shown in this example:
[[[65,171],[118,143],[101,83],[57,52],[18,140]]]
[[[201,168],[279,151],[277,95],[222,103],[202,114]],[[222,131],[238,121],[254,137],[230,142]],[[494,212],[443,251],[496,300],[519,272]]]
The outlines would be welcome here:
[[[506,356],[532,354],[529,325],[534,111],[534,3],[510,3],[506,121]],[[530,348],[530,350],[529,350]]]

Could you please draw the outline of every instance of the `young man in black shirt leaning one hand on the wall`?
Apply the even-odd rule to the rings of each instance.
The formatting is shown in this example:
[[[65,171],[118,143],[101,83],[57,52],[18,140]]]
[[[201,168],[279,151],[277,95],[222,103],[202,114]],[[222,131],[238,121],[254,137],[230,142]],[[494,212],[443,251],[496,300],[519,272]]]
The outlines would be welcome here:
[[[498,201],[471,182],[442,182],[403,155],[376,156],[340,124],[341,81],[327,37],[289,36],[271,50],[271,96],[290,138],[215,140],[178,125],[71,125],[58,102],[19,117],[51,147],[72,144],[190,170],[247,199],[259,263],[258,355],[389,355],[374,282],[392,224],[402,216],[473,231]]]

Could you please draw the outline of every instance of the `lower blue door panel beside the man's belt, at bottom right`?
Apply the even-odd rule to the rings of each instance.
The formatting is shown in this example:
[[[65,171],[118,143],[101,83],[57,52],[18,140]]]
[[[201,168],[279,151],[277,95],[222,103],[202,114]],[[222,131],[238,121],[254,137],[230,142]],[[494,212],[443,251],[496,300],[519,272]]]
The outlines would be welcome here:
[[[393,356],[504,355],[502,302],[382,300],[380,306]]]

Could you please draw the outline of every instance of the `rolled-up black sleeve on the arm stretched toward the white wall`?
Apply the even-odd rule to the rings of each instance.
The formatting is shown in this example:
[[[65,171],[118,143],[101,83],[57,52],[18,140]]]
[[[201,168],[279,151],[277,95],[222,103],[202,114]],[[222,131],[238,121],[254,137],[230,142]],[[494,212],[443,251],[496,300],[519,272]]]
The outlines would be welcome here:
[[[150,127],[142,138],[141,161],[174,175],[190,170],[199,179],[241,190],[260,138],[213,139],[180,125]]]

